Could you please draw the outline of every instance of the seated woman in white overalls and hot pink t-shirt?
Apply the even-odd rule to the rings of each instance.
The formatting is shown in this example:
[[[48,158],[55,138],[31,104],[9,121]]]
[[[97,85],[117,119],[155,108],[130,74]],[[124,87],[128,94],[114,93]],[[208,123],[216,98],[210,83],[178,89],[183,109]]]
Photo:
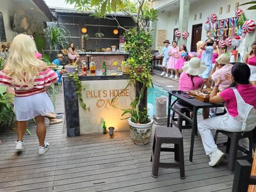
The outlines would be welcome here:
[[[232,80],[229,88],[217,95],[221,83],[221,79],[218,79],[210,95],[210,102],[225,102],[227,113],[205,119],[198,125],[205,153],[210,157],[210,166],[217,165],[225,155],[215,144],[211,130],[245,132],[253,130],[256,126],[256,87],[249,82],[249,67],[242,62],[236,63],[232,67],[231,76],[227,74],[226,77]],[[246,145],[248,148],[248,138],[240,141],[240,145]]]

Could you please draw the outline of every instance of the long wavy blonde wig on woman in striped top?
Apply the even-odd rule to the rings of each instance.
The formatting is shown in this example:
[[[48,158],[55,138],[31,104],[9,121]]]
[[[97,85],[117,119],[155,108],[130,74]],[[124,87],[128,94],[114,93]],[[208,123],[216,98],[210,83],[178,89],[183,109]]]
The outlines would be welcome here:
[[[19,34],[14,37],[5,66],[5,73],[12,78],[12,84],[33,87],[39,70],[35,53],[35,42],[29,35]]]

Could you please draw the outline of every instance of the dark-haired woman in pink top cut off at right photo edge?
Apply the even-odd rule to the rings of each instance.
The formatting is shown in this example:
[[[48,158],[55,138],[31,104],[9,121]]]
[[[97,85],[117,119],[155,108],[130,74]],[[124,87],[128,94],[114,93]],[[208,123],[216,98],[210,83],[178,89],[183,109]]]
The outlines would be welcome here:
[[[256,86],[256,41],[252,43],[251,51],[245,55],[245,62],[250,68],[250,81],[254,86]]]

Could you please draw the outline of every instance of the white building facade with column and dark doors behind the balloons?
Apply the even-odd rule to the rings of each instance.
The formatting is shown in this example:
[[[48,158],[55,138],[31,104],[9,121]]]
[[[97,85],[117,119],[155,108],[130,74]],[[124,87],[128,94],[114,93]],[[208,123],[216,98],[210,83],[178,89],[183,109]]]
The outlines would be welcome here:
[[[249,6],[238,7],[239,4],[249,2],[249,0],[153,0],[152,7],[158,10],[158,20],[152,24],[155,27],[155,48],[161,49],[160,39],[164,36],[170,41],[174,40],[174,31],[179,29],[181,37],[178,44],[185,44],[188,51],[195,51],[195,44],[198,40],[205,41],[207,39],[204,25],[207,17],[211,13],[217,14],[217,19],[226,19],[235,17],[237,8],[244,11],[246,19],[252,19],[256,22],[256,11],[246,10]],[[201,29],[200,29],[201,28]],[[189,32],[187,40],[182,38],[184,31]],[[237,50],[241,56],[247,52],[251,43],[256,40],[254,32],[247,34],[240,42]],[[232,36],[231,36],[232,38]],[[231,50],[230,47],[228,49]]]

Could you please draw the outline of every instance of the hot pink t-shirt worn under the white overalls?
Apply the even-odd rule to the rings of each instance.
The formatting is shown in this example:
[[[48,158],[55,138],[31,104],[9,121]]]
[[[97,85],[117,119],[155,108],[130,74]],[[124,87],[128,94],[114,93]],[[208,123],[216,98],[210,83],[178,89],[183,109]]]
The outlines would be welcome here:
[[[244,102],[256,109],[256,87],[252,84],[239,84],[237,90]],[[225,89],[220,93],[220,96],[226,102],[228,114],[233,117],[238,116],[237,99],[234,91],[231,88]]]

